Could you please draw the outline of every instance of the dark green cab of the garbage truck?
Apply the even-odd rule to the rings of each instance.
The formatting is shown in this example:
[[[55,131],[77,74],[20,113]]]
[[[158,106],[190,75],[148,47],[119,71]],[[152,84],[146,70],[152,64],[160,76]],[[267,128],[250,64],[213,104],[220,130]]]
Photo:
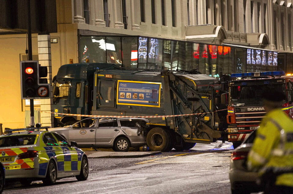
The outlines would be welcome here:
[[[109,63],[75,63],[62,65],[53,78],[54,126],[71,125],[79,116],[58,113],[90,114],[93,106],[92,91],[94,72],[116,67]]]

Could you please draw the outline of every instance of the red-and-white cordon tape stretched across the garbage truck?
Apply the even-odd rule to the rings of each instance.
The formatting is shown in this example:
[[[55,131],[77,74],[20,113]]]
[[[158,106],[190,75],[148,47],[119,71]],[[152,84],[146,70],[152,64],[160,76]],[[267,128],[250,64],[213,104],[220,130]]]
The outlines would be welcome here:
[[[77,117],[111,117],[111,118],[127,118],[127,117],[140,117],[140,118],[162,118],[162,117],[181,117],[181,116],[188,116],[188,115],[198,115],[198,114],[207,114],[207,113],[215,113],[219,111],[223,111],[227,109],[216,110],[213,112],[206,112],[206,113],[192,113],[192,114],[176,114],[176,115],[153,115],[153,116],[109,116],[109,115],[88,115],[88,114],[69,114],[69,113],[52,113],[52,114],[61,114],[61,115],[69,115],[69,116],[77,116]],[[45,113],[50,113],[43,111]]]

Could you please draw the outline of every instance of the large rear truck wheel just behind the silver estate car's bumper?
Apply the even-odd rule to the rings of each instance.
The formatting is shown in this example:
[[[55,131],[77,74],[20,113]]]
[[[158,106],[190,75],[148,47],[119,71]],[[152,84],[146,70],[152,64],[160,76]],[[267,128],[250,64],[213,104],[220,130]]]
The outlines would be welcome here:
[[[146,143],[151,151],[165,151],[169,145],[167,132],[159,127],[151,129],[146,136]]]

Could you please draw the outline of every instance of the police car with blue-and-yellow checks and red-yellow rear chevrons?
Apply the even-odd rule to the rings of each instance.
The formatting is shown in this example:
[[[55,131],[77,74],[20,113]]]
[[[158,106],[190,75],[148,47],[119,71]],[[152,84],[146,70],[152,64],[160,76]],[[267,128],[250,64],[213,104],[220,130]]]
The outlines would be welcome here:
[[[42,128],[46,131],[39,130]],[[6,180],[17,179],[29,185],[34,180],[54,184],[71,176],[79,181],[87,179],[86,154],[76,147],[76,142],[69,144],[47,128],[8,129],[8,134],[0,136],[0,161],[6,170]],[[21,130],[26,131],[12,133]]]

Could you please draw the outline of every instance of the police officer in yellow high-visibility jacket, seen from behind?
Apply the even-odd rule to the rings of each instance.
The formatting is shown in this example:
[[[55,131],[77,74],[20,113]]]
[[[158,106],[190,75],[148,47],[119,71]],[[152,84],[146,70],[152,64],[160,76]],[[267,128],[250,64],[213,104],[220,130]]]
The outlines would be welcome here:
[[[281,92],[263,94],[267,113],[248,155],[247,167],[263,175],[265,193],[293,193],[293,121],[280,108],[284,100]]]

